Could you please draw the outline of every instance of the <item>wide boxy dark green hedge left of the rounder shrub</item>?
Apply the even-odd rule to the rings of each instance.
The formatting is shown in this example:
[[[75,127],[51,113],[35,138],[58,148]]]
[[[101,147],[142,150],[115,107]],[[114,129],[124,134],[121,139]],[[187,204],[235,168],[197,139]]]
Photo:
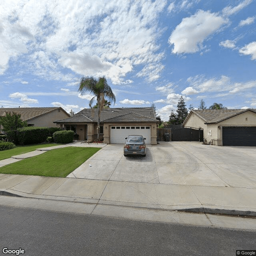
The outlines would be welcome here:
[[[24,127],[17,129],[18,142],[21,145],[45,142],[50,135],[48,127]]]

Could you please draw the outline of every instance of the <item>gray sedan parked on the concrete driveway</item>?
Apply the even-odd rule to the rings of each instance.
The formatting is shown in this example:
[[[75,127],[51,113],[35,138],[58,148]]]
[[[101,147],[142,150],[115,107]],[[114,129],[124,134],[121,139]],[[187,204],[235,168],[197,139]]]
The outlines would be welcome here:
[[[142,155],[146,156],[146,138],[142,135],[129,135],[124,144],[124,155]]]

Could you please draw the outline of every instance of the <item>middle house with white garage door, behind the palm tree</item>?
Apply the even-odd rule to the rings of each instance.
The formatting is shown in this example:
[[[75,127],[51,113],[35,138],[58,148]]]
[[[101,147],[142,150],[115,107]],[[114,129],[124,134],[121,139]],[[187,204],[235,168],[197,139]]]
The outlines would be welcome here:
[[[54,123],[73,130],[79,140],[97,138],[97,109],[84,108],[70,118]],[[156,144],[156,116],[153,108],[104,108],[100,113],[100,136],[104,143],[124,143],[131,134],[143,135],[147,144]]]

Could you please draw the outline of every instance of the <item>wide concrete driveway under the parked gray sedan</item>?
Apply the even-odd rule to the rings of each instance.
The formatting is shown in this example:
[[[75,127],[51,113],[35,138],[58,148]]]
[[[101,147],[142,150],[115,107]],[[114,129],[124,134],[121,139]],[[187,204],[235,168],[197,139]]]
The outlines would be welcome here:
[[[108,144],[67,177],[155,184],[256,188],[256,147],[202,142],[148,145],[146,157]]]

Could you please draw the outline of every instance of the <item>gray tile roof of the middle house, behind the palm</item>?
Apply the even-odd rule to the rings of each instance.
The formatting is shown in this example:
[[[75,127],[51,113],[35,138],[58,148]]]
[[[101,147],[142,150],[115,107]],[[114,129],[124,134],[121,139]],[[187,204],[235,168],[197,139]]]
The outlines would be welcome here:
[[[70,118],[54,123],[97,122],[97,109],[84,108]],[[158,122],[153,108],[103,108],[100,122]]]

